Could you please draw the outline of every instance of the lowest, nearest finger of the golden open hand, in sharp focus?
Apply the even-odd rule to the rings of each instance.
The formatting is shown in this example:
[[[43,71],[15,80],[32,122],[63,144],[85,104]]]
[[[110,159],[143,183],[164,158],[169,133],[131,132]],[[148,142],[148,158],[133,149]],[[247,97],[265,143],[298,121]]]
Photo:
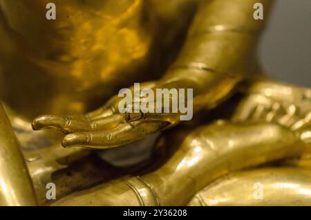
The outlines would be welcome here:
[[[111,131],[68,134],[62,140],[62,145],[64,147],[79,146],[94,149],[118,147],[139,140],[146,134],[157,131],[165,125],[167,125],[166,122],[124,122]]]

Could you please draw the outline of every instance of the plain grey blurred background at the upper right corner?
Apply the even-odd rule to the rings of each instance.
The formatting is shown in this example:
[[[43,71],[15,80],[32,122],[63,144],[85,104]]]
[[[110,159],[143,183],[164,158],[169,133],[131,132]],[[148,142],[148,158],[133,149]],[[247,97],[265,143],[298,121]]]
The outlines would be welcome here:
[[[311,86],[311,0],[278,0],[259,49],[272,77]]]

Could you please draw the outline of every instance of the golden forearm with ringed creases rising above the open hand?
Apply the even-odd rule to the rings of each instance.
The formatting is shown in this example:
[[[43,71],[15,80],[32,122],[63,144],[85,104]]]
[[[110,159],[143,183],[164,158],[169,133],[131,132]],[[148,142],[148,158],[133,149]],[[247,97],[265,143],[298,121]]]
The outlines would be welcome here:
[[[253,17],[255,3],[263,3],[263,20]],[[272,0],[203,1],[178,59],[162,82],[186,82],[194,88],[194,96],[206,95],[202,104],[214,105],[257,71],[256,45],[271,5]]]

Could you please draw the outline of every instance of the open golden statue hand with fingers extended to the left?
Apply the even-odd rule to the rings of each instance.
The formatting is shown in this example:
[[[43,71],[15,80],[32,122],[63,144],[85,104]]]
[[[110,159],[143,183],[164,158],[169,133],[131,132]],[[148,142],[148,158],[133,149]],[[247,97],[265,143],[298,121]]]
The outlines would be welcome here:
[[[140,89],[155,86],[155,83],[147,82],[141,84]],[[133,91],[133,88],[130,89]],[[104,149],[131,143],[178,121],[178,114],[172,113],[121,113],[121,100],[115,95],[100,109],[82,116],[39,116],[33,120],[32,129],[53,128],[61,131],[66,134],[62,140],[64,147]]]

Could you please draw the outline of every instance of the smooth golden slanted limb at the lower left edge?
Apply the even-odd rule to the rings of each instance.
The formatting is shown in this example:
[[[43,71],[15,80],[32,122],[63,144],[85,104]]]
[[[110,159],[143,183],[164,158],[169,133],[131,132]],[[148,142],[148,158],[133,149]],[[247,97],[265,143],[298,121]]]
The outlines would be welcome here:
[[[0,104],[0,205],[36,205],[21,149]]]

